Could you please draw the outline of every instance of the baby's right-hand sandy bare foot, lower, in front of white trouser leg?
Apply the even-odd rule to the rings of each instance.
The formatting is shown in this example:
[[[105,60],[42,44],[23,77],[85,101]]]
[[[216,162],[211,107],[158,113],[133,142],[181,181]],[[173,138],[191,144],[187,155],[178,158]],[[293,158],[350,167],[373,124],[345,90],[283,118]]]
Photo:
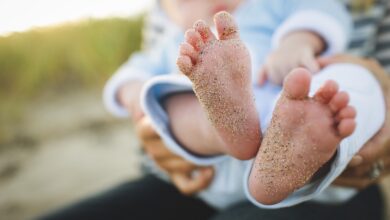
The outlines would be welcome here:
[[[278,203],[302,187],[355,129],[347,93],[329,80],[308,98],[310,77],[296,69],[284,81],[249,177],[250,193],[262,204]]]

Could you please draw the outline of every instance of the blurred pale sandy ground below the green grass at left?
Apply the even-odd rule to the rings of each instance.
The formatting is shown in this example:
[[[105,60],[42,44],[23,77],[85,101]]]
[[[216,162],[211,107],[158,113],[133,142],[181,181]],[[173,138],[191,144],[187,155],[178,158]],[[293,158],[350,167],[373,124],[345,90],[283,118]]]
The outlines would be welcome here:
[[[1,219],[31,219],[140,175],[133,128],[105,112],[99,92],[42,102],[24,138],[0,151]]]

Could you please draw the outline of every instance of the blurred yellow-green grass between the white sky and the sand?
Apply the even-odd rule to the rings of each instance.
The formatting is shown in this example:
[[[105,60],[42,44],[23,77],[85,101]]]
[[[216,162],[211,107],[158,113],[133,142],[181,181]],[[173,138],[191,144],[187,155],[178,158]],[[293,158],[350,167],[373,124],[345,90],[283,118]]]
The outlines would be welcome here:
[[[0,126],[17,120],[41,94],[103,87],[140,49],[142,17],[85,20],[0,37]]]

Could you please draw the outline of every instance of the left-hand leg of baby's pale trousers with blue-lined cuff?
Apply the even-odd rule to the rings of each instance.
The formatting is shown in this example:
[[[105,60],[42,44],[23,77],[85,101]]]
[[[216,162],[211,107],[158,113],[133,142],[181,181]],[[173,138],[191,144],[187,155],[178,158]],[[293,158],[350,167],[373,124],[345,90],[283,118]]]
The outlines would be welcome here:
[[[268,112],[272,108],[273,97],[278,94],[280,87],[266,85],[264,88],[266,89],[257,88],[255,90],[256,96],[266,97],[257,108],[262,112]],[[213,182],[198,196],[215,208],[227,208],[246,198],[242,180],[246,167],[252,161],[239,161],[226,155],[199,157],[189,153],[176,142],[169,130],[169,118],[160,100],[170,94],[191,91],[191,82],[183,75],[158,76],[145,84],[141,95],[141,105],[150,117],[153,128],[172,152],[200,166],[213,165],[215,169]],[[265,121],[263,117],[262,127],[265,127]]]

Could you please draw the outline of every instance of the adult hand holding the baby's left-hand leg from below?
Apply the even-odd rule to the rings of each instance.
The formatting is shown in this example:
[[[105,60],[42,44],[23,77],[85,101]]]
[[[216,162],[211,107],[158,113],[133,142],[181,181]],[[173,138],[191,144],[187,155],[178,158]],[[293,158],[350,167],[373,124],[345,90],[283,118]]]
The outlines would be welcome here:
[[[196,166],[169,151],[148,117],[137,121],[136,133],[145,152],[168,174],[181,193],[192,195],[209,186],[214,169]]]

